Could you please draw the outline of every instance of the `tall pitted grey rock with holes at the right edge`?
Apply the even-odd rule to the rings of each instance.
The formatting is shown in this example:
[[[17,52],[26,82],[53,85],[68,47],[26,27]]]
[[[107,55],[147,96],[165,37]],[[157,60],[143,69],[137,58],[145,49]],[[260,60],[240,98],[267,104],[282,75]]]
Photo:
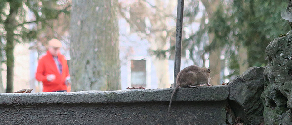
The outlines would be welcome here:
[[[273,40],[266,48],[269,63],[264,70],[266,125],[292,125],[292,36]]]

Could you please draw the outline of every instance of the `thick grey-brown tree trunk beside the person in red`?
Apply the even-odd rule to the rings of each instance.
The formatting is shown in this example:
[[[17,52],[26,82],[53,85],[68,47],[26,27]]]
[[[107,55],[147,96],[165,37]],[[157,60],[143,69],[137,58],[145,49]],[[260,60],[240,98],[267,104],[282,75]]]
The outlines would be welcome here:
[[[72,90],[120,90],[117,0],[73,0]]]

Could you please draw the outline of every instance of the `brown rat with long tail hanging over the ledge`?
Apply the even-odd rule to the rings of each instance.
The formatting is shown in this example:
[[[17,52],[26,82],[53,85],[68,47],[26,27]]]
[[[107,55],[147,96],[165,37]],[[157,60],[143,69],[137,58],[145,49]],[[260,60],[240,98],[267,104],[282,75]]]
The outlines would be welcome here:
[[[177,77],[176,77],[176,88],[173,90],[169,106],[168,106],[168,113],[171,107],[171,102],[174,94],[176,93],[176,90],[178,87],[197,87],[202,86],[203,84],[209,84],[209,73],[211,72],[210,69],[207,68],[200,68],[196,65],[188,66],[184,69],[182,69]]]

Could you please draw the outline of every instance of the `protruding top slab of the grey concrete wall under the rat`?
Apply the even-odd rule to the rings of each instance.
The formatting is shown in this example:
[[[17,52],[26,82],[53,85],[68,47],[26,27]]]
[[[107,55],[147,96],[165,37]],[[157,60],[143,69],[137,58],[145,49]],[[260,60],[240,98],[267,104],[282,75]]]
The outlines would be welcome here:
[[[62,103],[166,102],[174,88],[81,91],[71,93],[0,93],[0,105]],[[221,101],[229,95],[228,86],[179,88],[173,101]]]

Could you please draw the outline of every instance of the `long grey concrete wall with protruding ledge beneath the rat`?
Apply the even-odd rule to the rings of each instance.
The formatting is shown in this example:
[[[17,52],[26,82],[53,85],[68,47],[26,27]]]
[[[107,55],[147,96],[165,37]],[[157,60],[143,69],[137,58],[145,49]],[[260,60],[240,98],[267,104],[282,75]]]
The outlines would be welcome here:
[[[0,124],[223,125],[227,86],[0,94]]]

